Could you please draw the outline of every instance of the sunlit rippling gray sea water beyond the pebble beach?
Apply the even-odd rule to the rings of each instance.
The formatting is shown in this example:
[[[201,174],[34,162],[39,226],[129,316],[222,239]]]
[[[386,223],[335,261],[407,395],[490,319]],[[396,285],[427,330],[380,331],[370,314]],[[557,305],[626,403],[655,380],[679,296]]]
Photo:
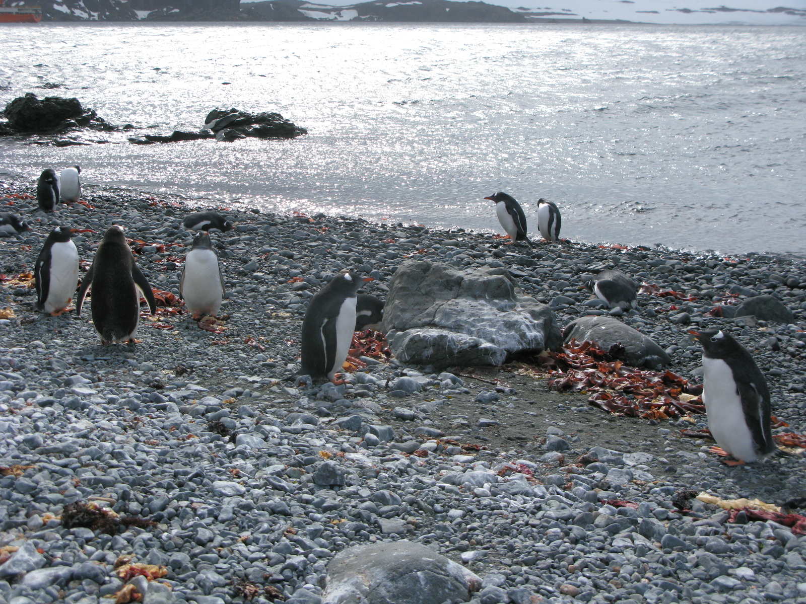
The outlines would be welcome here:
[[[310,133],[4,139],[0,176],[78,163],[198,205],[498,232],[483,197],[503,190],[533,236],[546,197],[573,240],[806,254],[806,27],[41,23],[0,43],[0,103],[75,96],[137,134],[279,111]]]

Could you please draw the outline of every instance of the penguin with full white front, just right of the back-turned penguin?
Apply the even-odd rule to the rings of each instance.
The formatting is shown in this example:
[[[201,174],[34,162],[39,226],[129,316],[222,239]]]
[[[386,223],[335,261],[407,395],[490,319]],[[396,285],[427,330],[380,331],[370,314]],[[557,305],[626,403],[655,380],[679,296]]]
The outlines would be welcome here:
[[[185,300],[194,319],[202,315],[216,316],[226,298],[218,254],[213,250],[209,233],[197,234],[193,238],[193,247],[185,255],[179,297]]]

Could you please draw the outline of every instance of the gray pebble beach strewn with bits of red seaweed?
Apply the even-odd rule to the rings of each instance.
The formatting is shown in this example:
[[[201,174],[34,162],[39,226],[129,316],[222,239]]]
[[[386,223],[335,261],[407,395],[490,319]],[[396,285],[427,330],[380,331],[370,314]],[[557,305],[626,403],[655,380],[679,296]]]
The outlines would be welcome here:
[[[774,432],[803,433],[804,261],[510,247],[463,230],[226,211],[238,225],[214,240],[227,318],[205,331],[171,304],[190,242],[184,200],[85,186],[86,205],[46,216],[30,184],[0,187],[4,209],[34,228],[0,240],[11,311],[0,319],[0,604],[98,604],[125,589],[146,604],[334,602],[334,555],[401,539],[476,573],[476,604],[804,602],[804,536],[772,520],[731,523],[728,511],[686,497],[796,506],[803,449],[728,468],[704,437],[681,432],[704,428],[703,416],[613,416],[587,391],[551,391],[517,363],[440,370],[367,357],[343,386],[276,384],[298,367],[306,301],[343,268],[375,277],[364,292],[382,298],[407,257],[504,267],[564,327],[618,316],[580,288],[617,267],[656,294],[676,292],[642,294],[638,311],[618,317],[657,341],[675,374],[700,382],[692,325],[729,329],[789,424]],[[52,225],[98,232],[74,239],[89,263],[113,223],[165,292],[134,347],[99,345],[89,316],[35,312],[24,276]],[[734,302],[765,294],[783,301],[790,324],[727,318]],[[391,395],[401,377],[420,388]],[[156,524],[65,527],[65,507],[88,502]],[[155,567],[132,578],[120,556]]]

